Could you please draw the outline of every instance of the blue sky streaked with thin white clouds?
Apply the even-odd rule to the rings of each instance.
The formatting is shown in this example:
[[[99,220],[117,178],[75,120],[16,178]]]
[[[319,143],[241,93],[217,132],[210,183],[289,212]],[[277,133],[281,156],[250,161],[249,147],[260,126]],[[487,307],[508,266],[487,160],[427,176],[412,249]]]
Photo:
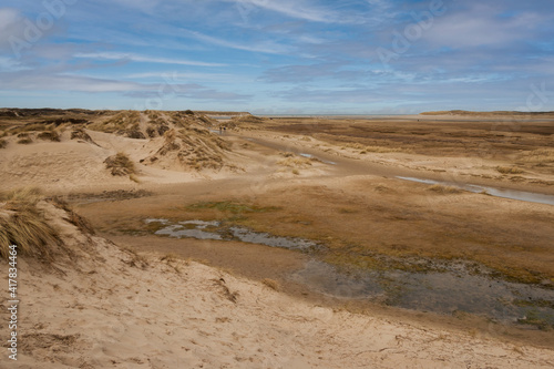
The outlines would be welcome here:
[[[552,0],[0,0],[0,107],[554,111]]]

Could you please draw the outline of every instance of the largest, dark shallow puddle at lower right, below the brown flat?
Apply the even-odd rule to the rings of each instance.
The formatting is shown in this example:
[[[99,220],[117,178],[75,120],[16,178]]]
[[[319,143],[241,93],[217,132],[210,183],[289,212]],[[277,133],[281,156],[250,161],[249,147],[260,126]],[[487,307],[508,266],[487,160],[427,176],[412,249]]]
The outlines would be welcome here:
[[[472,275],[463,265],[445,273],[387,270],[347,275],[311,260],[290,279],[338,298],[448,315],[463,311],[507,324],[534,320],[554,326],[554,290]]]

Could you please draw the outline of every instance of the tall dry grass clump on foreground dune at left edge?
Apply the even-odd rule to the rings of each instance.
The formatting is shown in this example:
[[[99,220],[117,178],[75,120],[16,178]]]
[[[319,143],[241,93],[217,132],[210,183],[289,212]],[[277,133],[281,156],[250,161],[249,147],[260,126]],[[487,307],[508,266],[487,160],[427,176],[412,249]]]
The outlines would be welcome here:
[[[42,198],[35,188],[2,194],[0,207],[0,257],[8,258],[10,245],[18,246],[18,255],[49,259],[51,247],[60,244],[58,232],[37,208]]]

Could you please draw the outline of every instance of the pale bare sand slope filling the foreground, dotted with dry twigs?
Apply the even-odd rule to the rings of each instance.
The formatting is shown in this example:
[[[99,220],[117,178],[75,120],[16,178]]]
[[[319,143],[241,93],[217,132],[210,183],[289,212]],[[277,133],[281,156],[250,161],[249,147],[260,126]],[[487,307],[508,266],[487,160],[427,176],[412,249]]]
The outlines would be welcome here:
[[[19,265],[4,368],[552,368],[547,349],[294,299],[182,259],[136,257],[60,219],[78,257]],[[0,267],[7,274],[6,264]],[[2,320],[6,321],[6,308]],[[6,325],[2,336],[6,336]]]

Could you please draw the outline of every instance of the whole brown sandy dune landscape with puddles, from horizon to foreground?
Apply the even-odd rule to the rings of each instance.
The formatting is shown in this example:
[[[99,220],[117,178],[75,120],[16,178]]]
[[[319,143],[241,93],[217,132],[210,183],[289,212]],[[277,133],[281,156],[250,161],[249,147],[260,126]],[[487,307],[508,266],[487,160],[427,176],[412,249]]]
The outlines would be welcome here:
[[[20,266],[20,362],[554,366],[553,116],[191,113],[0,116],[0,189],[96,230]]]

